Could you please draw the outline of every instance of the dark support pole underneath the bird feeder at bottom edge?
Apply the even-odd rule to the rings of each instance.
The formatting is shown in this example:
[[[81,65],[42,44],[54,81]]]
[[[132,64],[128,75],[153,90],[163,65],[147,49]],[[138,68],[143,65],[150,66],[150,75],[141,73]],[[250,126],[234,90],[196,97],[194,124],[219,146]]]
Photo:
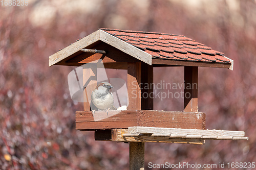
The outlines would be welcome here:
[[[144,155],[145,155],[144,142],[130,142],[130,170],[144,170]]]

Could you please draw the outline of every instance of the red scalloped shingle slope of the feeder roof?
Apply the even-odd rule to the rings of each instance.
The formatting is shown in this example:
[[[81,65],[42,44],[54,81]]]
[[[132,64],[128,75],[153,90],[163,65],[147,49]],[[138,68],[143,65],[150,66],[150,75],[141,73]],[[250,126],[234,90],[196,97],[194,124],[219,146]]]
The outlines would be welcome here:
[[[154,32],[100,29],[144,52],[154,59],[230,63],[223,53],[182,35]]]

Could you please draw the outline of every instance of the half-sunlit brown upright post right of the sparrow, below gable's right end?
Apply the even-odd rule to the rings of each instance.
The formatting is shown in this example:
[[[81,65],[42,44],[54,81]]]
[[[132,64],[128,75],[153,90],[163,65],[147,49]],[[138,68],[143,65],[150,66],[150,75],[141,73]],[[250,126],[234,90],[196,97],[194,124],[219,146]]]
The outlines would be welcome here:
[[[127,110],[141,109],[141,63],[127,63]]]

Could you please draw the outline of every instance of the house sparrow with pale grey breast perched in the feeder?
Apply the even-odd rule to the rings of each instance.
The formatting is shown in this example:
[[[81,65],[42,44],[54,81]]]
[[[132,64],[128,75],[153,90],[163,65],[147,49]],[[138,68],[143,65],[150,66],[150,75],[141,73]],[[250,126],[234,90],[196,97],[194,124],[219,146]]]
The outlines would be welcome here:
[[[113,88],[110,83],[100,83],[92,92],[92,102],[99,110],[116,110],[114,107],[114,98],[110,89]]]

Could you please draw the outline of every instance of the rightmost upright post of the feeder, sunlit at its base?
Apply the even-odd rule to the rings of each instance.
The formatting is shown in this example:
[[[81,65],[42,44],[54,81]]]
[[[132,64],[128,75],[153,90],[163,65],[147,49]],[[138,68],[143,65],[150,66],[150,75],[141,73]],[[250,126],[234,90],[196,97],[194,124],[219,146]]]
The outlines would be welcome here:
[[[198,111],[198,67],[184,67],[184,111]]]

